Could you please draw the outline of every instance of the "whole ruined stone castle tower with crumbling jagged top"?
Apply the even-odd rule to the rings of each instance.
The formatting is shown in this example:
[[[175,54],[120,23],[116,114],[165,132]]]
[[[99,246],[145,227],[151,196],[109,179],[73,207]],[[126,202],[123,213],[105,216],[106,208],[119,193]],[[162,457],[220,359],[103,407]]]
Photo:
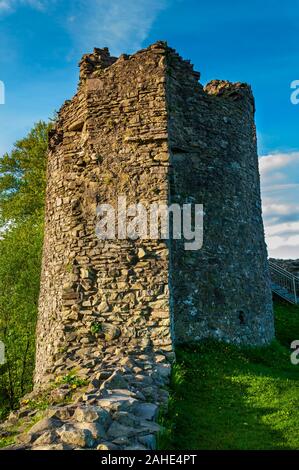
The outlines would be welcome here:
[[[91,350],[89,367],[130,349],[170,358],[175,342],[206,337],[273,338],[254,99],[245,84],[198,80],[164,42],[82,58],[49,142],[37,385]],[[99,240],[97,205],[120,195],[203,204],[202,249]]]

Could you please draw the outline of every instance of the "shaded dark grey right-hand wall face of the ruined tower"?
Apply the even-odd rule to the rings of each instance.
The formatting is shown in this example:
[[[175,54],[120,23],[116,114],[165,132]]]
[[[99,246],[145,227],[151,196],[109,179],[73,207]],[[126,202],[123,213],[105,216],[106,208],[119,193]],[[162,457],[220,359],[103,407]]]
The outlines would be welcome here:
[[[172,245],[175,339],[268,343],[272,294],[251,89],[218,80],[203,88],[175,51],[167,65],[171,201],[204,205],[202,249]]]

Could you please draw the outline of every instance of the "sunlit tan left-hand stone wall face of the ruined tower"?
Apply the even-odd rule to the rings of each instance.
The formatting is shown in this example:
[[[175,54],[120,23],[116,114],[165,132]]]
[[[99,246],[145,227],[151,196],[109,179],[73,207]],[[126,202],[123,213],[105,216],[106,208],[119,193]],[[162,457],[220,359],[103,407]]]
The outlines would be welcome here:
[[[166,242],[95,234],[99,203],[116,205],[120,195],[167,203],[165,50],[154,45],[106,67],[107,54],[84,56],[78,94],[50,141],[37,384],[83,364],[95,342],[100,357],[128,343],[172,352]]]

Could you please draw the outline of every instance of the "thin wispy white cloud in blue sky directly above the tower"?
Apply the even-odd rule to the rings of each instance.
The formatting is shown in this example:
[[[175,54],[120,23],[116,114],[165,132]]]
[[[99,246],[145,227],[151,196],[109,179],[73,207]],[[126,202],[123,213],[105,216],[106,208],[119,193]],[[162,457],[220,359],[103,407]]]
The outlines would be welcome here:
[[[111,53],[130,53],[143,41],[167,0],[75,0],[66,22],[80,52],[109,47]]]

